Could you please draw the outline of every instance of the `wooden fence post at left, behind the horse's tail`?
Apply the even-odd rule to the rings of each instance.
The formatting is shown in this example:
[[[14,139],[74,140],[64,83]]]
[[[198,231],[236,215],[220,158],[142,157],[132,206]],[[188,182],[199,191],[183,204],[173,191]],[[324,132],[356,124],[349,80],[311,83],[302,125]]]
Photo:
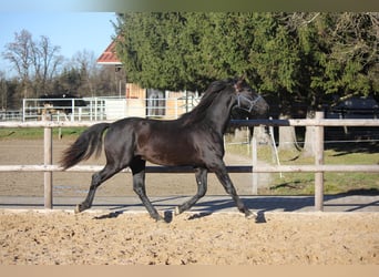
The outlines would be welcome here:
[[[51,114],[47,113],[45,121],[51,121]],[[44,127],[43,130],[43,164],[52,165],[52,127]],[[44,185],[44,208],[52,208],[52,172],[43,173]]]

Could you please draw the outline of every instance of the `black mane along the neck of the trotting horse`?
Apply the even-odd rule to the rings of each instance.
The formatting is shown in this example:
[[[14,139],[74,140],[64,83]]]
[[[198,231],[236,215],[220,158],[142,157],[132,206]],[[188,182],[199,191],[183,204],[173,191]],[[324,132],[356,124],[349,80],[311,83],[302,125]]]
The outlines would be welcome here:
[[[196,123],[203,120],[207,109],[218,95],[218,92],[233,84],[235,84],[235,80],[233,79],[226,79],[211,83],[208,89],[204,92],[201,102],[191,112],[187,112],[180,117],[184,125]]]

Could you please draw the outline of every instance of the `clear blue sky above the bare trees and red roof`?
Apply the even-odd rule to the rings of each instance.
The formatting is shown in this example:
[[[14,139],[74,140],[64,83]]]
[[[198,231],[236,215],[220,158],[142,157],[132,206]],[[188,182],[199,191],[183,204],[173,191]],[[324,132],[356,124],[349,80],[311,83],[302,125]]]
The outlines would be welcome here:
[[[0,11],[0,71],[7,76],[14,74],[1,53],[22,29],[34,40],[48,37],[52,45],[61,47],[60,54],[66,59],[83,50],[99,58],[115,34],[115,19],[114,12]]]

